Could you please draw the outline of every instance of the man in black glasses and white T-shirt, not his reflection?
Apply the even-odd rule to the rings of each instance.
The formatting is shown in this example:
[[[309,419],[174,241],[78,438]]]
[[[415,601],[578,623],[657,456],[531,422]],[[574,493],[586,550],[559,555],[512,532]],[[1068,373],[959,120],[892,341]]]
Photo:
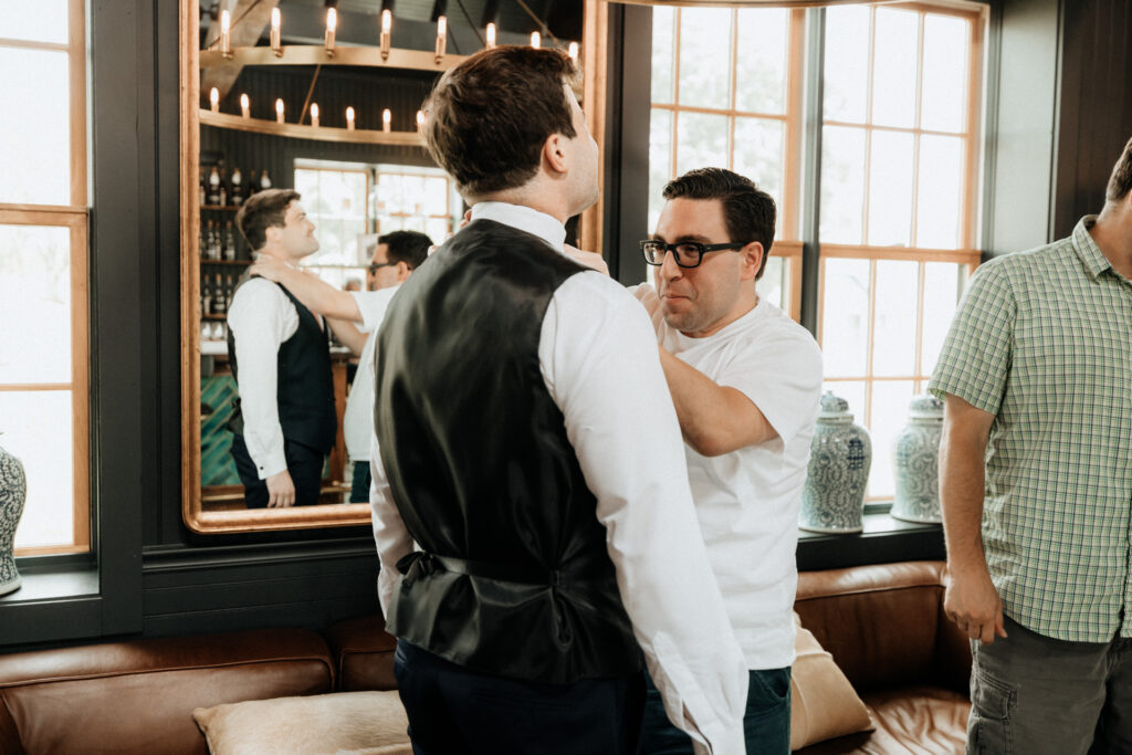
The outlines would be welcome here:
[[[813,336],[755,284],[774,238],[774,200],[707,168],[664,187],[641,242],[652,317],[684,434],[692,497],[712,570],[751,670],[747,753],[790,750],[795,550],[822,357]],[[691,753],[650,685],[643,752]]]

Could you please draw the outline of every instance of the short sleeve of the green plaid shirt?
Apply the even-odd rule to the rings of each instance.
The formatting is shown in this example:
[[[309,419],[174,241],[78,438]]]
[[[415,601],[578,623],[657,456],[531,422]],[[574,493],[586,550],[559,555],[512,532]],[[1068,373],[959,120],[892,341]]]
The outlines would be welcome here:
[[[1005,267],[995,261],[981,266],[951,321],[928,391],[996,414],[1010,372],[1017,317]]]

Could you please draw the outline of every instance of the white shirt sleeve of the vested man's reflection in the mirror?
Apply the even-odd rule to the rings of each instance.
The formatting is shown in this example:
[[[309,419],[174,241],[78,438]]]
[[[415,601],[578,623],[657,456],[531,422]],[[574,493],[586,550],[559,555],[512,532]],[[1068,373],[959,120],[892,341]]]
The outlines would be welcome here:
[[[254,277],[235,290],[228,327],[235,337],[243,441],[264,480],[286,469],[276,401],[278,351],[299,329],[299,312],[283,289]]]

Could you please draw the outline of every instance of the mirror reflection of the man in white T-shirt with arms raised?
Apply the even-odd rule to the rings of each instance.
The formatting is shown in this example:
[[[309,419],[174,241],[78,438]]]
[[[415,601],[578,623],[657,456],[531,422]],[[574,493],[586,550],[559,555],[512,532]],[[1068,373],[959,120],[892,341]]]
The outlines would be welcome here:
[[[275,257],[260,257],[252,275],[276,281],[311,311],[327,318],[334,335],[360,355],[353,387],[346,396],[342,429],[353,462],[350,503],[369,503],[369,441],[374,432],[374,343],[389,300],[428,258],[432,240],[418,231],[393,231],[377,239],[367,269],[368,291],[337,291],[334,286]],[[361,331],[353,324],[360,323]]]

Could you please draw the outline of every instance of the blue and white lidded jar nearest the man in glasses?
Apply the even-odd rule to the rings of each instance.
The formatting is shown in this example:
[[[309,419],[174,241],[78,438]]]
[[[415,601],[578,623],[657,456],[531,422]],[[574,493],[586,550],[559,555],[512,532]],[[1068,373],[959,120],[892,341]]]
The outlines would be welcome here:
[[[854,424],[849,402],[826,392],[809,446],[798,525],[812,532],[860,532],[872,463],[873,444],[865,428]]]

